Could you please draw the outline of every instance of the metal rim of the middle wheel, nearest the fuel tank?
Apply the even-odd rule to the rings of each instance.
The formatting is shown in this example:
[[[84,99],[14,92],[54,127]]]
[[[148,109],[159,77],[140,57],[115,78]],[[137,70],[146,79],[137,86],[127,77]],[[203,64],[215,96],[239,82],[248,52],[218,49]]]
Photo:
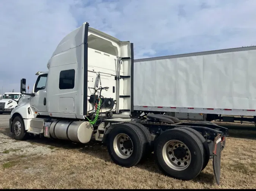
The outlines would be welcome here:
[[[127,159],[132,155],[133,142],[127,134],[119,133],[113,142],[114,151],[121,159]]]

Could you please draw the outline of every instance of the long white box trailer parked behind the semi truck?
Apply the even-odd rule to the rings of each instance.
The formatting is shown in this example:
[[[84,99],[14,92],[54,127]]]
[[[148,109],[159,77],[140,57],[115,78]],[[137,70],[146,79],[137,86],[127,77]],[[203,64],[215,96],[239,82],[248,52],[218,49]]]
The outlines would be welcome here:
[[[134,60],[132,115],[255,123],[255,63],[256,46]]]

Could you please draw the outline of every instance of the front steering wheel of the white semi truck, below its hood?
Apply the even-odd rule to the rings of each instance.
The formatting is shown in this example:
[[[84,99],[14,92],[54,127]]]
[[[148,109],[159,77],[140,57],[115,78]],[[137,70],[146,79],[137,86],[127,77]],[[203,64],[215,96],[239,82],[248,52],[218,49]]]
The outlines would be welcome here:
[[[27,132],[25,131],[24,121],[20,116],[14,118],[12,130],[14,139],[24,140],[27,138]]]

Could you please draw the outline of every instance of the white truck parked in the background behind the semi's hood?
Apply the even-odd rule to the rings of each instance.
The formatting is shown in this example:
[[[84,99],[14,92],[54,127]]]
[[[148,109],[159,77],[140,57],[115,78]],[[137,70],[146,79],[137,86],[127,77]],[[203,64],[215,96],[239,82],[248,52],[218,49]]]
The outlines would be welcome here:
[[[6,92],[0,100],[0,114],[10,113],[18,106],[19,99],[23,95],[20,92]]]

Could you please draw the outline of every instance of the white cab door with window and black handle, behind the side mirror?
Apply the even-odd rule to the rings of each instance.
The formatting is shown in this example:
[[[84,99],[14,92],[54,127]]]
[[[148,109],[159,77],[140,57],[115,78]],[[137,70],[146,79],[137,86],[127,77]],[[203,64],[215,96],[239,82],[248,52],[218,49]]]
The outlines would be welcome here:
[[[34,111],[37,111],[39,115],[49,115],[46,107],[46,98],[47,98],[47,91],[46,91],[46,83],[47,83],[47,75],[42,74],[38,76],[36,80],[34,92],[35,96],[31,97],[31,107]]]

